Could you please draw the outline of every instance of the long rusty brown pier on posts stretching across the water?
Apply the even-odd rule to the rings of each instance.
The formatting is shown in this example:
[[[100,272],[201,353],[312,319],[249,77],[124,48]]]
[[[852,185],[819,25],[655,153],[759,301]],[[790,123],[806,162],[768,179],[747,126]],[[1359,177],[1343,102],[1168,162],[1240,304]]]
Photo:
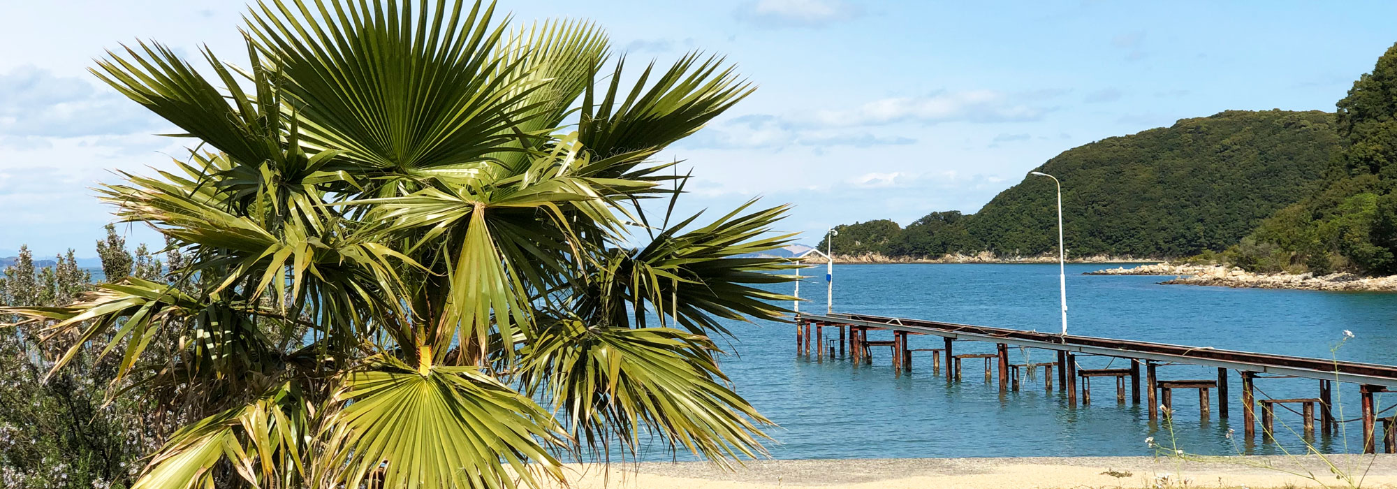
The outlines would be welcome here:
[[[997,379],[1000,393],[1018,391],[1021,377],[1025,373],[1032,377],[1037,367],[1042,367],[1044,388],[1049,391],[1053,388],[1052,377],[1055,374],[1058,388],[1066,394],[1071,407],[1078,402],[1091,404],[1091,381],[1094,379],[1113,381],[1115,398],[1122,404],[1126,402],[1127,393],[1130,402],[1141,402],[1141,390],[1144,390],[1143,397],[1148,402],[1150,421],[1160,419],[1161,414],[1172,416],[1173,393],[1178,390],[1197,393],[1203,419],[1214,414],[1211,398],[1215,394],[1215,414],[1221,418],[1229,418],[1228,400],[1234,391],[1229,388],[1228,380],[1229,370],[1235,370],[1241,377],[1239,393],[1235,395],[1241,398],[1242,428],[1248,439],[1256,436],[1257,409],[1261,411],[1261,435],[1273,437],[1275,435],[1273,430],[1275,409],[1281,408],[1295,411],[1302,416],[1305,436],[1315,433],[1316,423],[1322,433],[1329,435],[1337,429],[1340,422],[1358,422],[1362,425],[1363,453],[1376,453],[1379,443],[1386,453],[1397,451],[1397,436],[1393,433],[1397,416],[1382,418],[1391,408],[1379,409],[1375,402],[1375,394],[1397,390],[1397,366],[834,312],[823,314],[798,312],[795,326],[798,355],[817,359],[847,358],[858,365],[870,363],[875,348],[890,348],[888,358],[893,360],[893,370],[897,374],[911,372],[914,355],[930,355],[933,372],[944,369],[949,383],[961,380],[960,370],[964,360],[971,360],[970,363],[974,365],[978,363],[975,360],[983,359],[985,381]],[[833,330],[827,333],[827,328]],[[869,337],[870,333],[875,333],[875,338]],[[908,338],[912,335],[940,337],[943,341],[937,346],[942,348],[911,348]],[[995,352],[957,353],[957,344],[961,342],[988,344],[993,346]],[[1011,363],[1010,346],[1052,352],[1055,360]],[[1078,369],[1078,356],[1119,359],[1127,365],[1115,369]],[[1215,367],[1217,377],[1208,374],[1208,379],[1160,379],[1160,367],[1172,365]],[[1316,397],[1257,398],[1257,383],[1266,379],[1315,380]],[[1334,383],[1358,386],[1362,416],[1348,421],[1336,419],[1333,409]],[[1292,407],[1298,407],[1301,411]],[[1319,411],[1317,419],[1316,408]],[[1380,432],[1379,426],[1382,426]]]

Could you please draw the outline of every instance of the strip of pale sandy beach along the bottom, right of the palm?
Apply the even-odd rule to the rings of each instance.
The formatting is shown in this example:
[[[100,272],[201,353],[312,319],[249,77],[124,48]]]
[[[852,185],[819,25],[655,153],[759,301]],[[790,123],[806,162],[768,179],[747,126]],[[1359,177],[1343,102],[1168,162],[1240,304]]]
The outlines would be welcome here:
[[[1338,457],[1338,458],[1333,458]],[[1179,461],[1151,457],[1025,457],[908,460],[773,460],[752,461],[728,472],[707,462],[613,464],[569,467],[578,489],[1049,489],[1155,488],[1347,488],[1317,457],[1218,457],[1221,461]],[[1331,455],[1340,467],[1365,472],[1363,488],[1397,488],[1397,455]],[[1324,485],[1277,469],[1312,472]],[[1185,485],[1185,482],[1187,482]]]

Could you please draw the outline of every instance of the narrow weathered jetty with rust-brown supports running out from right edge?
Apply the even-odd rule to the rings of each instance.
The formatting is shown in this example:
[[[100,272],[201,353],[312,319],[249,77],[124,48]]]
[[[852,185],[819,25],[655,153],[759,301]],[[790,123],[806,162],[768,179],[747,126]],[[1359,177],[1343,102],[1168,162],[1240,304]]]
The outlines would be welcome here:
[[[954,353],[954,344],[957,341],[993,344],[996,353],[971,356],[989,356],[986,358],[986,381],[990,379],[989,369],[993,367],[990,363],[997,363],[996,370],[999,372],[999,390],[1002,393],[1017,390],[1018,387],[1017,379],[1010,377],[1011,365],[1009,363],[1009,346],[1053,351],[1058,355],[1056,365],[1059,366],[1055,369],[1059,380],[1058,384],[1066,391],[1067,401],[1071,405],[1077,404],[1078,381],[1083,383],[1083,387],[1090,388],[1090,379],[1097,374],[1084,370],[1084,374],[1078,379],[1076,356],[1090,355],[1126,359],[1130,362],[1129,373],[1116,373],[1119,374],[1118,386],[1123,386],[1125,379],[1129,377],[1132,401],[1140,402],[1141,376],[1144,377],[1144,388],[1148,394],[1148,412],[1151,421],[1157,419],[1160,415],[1160,395],[1169,395],[1169,390],[1185,384],[1186,388],[1199,390],[1201,402],[1208,402],[1207,391],[1210,388],[1215,388],[1218,400],[1217,414],[1222,418],[1228,418],[1228,370],[1236,370],[1242,380],[1242,425],[1248,437],[1252,437],[1256,433],[1256,407],[1260,404],[1256,398],[1255,388],[1257,379],[1295,377],[1317,380],[1319,397],[1316,397],[1313,402],[1320,408],[1320,425],[1324,433],[1330,433],[1330,429],[1338,422],[1334,419],[1331,412],[1333,383],[1352,383],[1359,386],[1362,416],[1355,421],[1361,422],[1363,426],[1363,451],[1375,453],[1377,437],[1383,439],[1383,447],[1389,453],[1397,450],[1393,448],[1397,447],[1397,444],[1394,444],[1397,433],[1391,433],[1393,429],[1387,428],[1394,423],[1389,423],[1384,418],[1382,419],[1384,432],[1379,433],[1375,430],[1379,421],[1377,415],[1380,412],[1375,404],[1375,394],[1397,390],[1397,366],[1391,365],[1337,362],[1331,359],[1255,353],[1208,346],[1185,346],[1147,341],[1062,335],[905,317],[833,312],[824,314],[798,313],[795,324],[796,351],[802,355],[833,356],[834,344],[838,344],[841,356],[844,355],[845,346],[848,346],[848,352],[855,363],[863,363],[869,360],[869,353],[866,351],[868,346],[891,346],[893,366],[897,372],[911,370],[911,353],[918,351],[908,346],[908,335],[942,337],[944,340],[944,348],[921,351],[932,351],[933,355],[944,355],[946,360],[940,363],[946,367],[947,381],[960,380],[960,372],[957,372],[957,358],[965,358],[965,355]],[[838,340],[824,335],[824,328],[827,327],[838,330]],[[891,331],[893,340],[870,341],[868,338],[869,331]],[[816,340],[813,349],[810,348],[812,337]],[[830,340],[826,341],[826,338]],[[828,351],[826,351],[826,344],[830,344]],[[990,359],[997,359],[997,362],[990,362]],[[1157,376],[1157,367],[1166,365],[1217,367],[1218,376],[1215,380],[1160,380]],[[1161,383],[1164,383],[1164,386],[1160,386]],[[1090,402],[1088,400],[1090,394],[1084,395],[1084,401]],[[1168,401],[1165,404],[1172,405]],[[1271,404],[1264,404],[1267,408],[1270,408],[1270,405]],[[1208,414],[1210,409],[1203,407],[1201,415],[1207,416]],[[1313,414],[1306,409],[1306,425],[1313,426]],[[1274,435],[1267,432],[1268,429],[1270,426],[1263,426],[1263,436],[1270,437]],[[1312,432],[1312,429],[1308,429],[1306,432]]]

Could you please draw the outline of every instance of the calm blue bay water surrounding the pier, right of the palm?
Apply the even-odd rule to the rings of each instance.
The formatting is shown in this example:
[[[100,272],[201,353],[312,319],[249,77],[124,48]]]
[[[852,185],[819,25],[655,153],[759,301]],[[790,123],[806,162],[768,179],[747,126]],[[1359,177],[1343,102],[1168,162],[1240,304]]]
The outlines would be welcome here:
[[[1157,285],[1158,277],[1087,277],[1101,265],[1069,265],[1069,328],[1073,334],[1232,348],[1330,358],[1352,330],[1355,340],[1337,349],[1338,359],[1397,363],[1397,295],[1306,291],[1228,289]],[[1037,264],[898,264],[837,265],[835,312],[933,319],[942,321],[1058,331],[1058,267]],[[823,279],[819,277],[817,279]],[[802,288],[816,300],[805,310],[824,310],[824,284]],[[909,376],[894,376],[886,351],[872,366],[847,360],[810,360],[795,355],[789,324],[735,324],[732,352],[724,370],[745,395],[780,428],[775,458],[900,458],[1011,455],[1146,455],[1143,440],[1166,440],[1165,426],[1151,425],[1144,405],[1118,405],[1115,384],[1102,379],[1094,404],[1067,408],[1060,393],[1045,394],[1031,381],[1020,393],[1000,395],[985,384],[978,362],[965,365],[964,381],[947,386],[919,356]],[[888,333],[882,333],[888,335]],[[870,333],[870,338],[880,333]],[[940,338],[912,337],[912,348],[937,348]],[[993,345],[960,342],[957,353],[989,353]],[[1024,352],[1011,348],[1011,359]],[[1052,353],[1032,351],[1032,360]],[[1106,367],[1105,358],[1081,356],[1083,367]],[[1115,360],[1113,367],[1129,363]],[[1161,379],[1215,379],[1215,369],[1161,366]],[[1232,395],[1241,395],[1234,374]],[[1343,418],[1358,416],[1356,387],[1340,386]],[[1317,381],[1261,379],[1259,397],[1316,397]],[[1217,393],[1213,394],[1214,400]],[[1241,436],[1241,402],[1231,401],[1235,440],[1228,419],[1214,412],[1199,421],[1197,397],[1175,393],[1179,444],[1201,454],[1236,451],[1274,454],[1273,443],[1248,444]],[[1379,397],[1380,408],[1397,394]],[[1337,414],[1336,414],[1337,415]],[[1278,409],[1278,419],[1299,432],[1299,416]],[[1330,451],[1359,450],[1358,423],[1344,436],[1316,443]],[[1277,430],[1289,450],[1298,436]],[[1234,446],[1236,441],[1236,446]]]

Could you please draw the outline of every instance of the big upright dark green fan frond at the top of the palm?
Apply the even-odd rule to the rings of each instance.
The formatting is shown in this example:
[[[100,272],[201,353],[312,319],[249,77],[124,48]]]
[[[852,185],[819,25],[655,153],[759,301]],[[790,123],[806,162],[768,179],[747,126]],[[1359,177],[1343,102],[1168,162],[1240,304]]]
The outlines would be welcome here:
[[[522,102],[543,81],[496,56],[493,14],[464,0],[275,1],[253,8],[249,29],[285,73],[307,147],[412,175],[483,166],[536,116]]]

